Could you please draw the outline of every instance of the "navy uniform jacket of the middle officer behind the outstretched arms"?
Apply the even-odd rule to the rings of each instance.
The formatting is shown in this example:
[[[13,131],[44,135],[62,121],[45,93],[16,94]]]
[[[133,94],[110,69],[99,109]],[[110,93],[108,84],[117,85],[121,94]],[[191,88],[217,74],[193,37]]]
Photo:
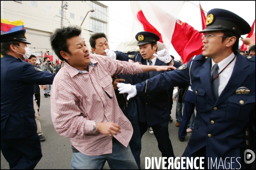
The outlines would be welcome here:
[[[116,59],[128,61],[132,59],[134,62],[140,62],[147,65],[147,60],[143,59],[140,53],[135,55],[127,55],[122,52],[116,52]],[[156,60],[155,65],[166,65],[166,63]],[[152,77],[162,74],[164,71],[152,72]],[[133,75],[133,84],[137,84],[149,79],[148,73]],[[156,83],[156,82],[155,82]],[[172,94],[171,94],[172,95]],[[166,90],[154,91],[150,95],[136,96],[139,121],[146,122],[149,126],[164,123],[169,120],[170,103],[169,93]]]

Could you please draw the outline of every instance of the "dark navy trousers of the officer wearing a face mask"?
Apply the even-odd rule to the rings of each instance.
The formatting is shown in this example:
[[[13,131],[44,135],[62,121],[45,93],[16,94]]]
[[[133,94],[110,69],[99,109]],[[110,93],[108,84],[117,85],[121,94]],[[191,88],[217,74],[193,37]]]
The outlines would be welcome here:
[[[10,169],[34,169],[42,158],[41,143],[37,133],[18,139],[2,139],[1,151]]]

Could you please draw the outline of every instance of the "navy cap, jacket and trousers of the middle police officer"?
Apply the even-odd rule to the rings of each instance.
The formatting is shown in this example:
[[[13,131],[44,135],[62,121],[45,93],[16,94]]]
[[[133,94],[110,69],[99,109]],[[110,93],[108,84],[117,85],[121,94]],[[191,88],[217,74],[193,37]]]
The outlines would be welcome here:
[[[138,45],[148,44],[150,42],[157,42],[160,38],[151,32],[139,32],[136,35]],[[122,61],[128,61],[129,59],[134,62],[140,62],[143,65],[147,65],[147,60],[143,59],[138,52],[135,55],[126,55],[122,52],[116,51],[116,59]],[[166,63],[156,59],[155,65],[166,65]],[[164,71],[157,72],[152,71],[152,76],[162,74]],[[135,74],[133,75],[133,84],[143,82],[149,79],[149,73]],[[140,123],[140,135],[141,137],[147,131],[148,126],[151,126],[154,135],[158,142],[158,148],[164,157],[175,157],[173,153],[172,143],[169,139],[169,114],[170,114],[170,102],[168,89],[164,91],[152,92],[147,96],[136,96],[137,109],[139,114]]]

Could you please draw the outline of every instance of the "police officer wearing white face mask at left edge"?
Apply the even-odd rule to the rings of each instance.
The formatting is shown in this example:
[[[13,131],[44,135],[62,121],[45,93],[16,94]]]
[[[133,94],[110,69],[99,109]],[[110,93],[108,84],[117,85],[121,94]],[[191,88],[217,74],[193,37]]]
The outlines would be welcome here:
[[[55,76],[24,61],[27,44],[25,29],[1,34],[1,151],[10,169],[33,169],[42,157],[33,95]]]

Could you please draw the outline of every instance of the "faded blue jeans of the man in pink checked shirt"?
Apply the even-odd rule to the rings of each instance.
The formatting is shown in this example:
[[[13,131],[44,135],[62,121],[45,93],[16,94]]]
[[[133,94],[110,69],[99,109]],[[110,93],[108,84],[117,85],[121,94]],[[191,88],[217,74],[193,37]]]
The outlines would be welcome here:
[[[71,161],[72,169],[102,169],[108,161],[110,169],[138,169],[131,149],[113,139],[112,153],[87,156],[81,152],[73,153]]]

